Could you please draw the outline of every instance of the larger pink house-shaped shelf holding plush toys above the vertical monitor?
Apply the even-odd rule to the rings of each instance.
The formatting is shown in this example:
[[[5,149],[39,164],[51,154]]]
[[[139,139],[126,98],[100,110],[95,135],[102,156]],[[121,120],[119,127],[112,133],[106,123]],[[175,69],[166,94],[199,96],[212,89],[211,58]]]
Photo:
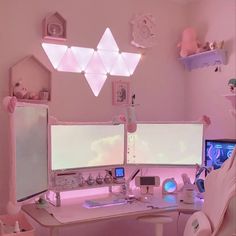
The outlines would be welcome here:
[[[25,102],[45,103],[51,96],[51,72],[33,55],[10,68],[10,95]]]

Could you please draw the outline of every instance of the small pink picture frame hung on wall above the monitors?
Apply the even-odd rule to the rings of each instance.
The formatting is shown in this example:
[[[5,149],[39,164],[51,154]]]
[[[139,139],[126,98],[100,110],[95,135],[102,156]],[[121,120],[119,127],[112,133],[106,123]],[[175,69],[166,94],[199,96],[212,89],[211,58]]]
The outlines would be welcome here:
[[[129,81],[113,81],[112,82],[112,105],[128,105],[129,104],[130,83]]]

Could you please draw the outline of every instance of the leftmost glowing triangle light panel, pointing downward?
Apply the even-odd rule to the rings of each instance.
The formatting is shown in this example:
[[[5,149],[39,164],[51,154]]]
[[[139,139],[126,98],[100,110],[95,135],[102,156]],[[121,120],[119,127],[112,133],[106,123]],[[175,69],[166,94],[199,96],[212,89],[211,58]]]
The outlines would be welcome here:
[[[66,45],[59,45],[59,44],[50,44],[50,43],[42,43],[42,47],[47,54],[50,62],[52,63],[53,67],[56,69],[65,55],[67,50]]]

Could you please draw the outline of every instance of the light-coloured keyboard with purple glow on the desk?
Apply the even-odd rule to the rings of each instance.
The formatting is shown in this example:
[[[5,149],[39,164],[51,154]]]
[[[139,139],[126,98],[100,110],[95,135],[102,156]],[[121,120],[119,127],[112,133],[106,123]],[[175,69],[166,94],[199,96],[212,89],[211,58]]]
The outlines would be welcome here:
[[[99,207],[107,207],[114,205],[123,205],[126,203],[127,200],[124,198],[98,198],[98,199],[86,200],[84,206],[86,208],[99,208]]]

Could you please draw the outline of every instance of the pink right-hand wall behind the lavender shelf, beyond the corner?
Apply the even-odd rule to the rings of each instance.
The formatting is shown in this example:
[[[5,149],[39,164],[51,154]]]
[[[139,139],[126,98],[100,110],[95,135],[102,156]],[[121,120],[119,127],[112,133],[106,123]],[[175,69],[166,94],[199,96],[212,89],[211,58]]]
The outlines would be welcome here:
[[[215,67],[187,72],[187,119],[208,115],[212,125],[206,130],[207,138],[236,138],[236,117],[229,112],[233,107],[223,97],[230,93],[228,80],[236,77],[235,12],[234,0],[200,0],[189,5],[188,17],[200,41],[224,40],[228,53],[227,65],[221,66],[221,72],[214,72]]]

